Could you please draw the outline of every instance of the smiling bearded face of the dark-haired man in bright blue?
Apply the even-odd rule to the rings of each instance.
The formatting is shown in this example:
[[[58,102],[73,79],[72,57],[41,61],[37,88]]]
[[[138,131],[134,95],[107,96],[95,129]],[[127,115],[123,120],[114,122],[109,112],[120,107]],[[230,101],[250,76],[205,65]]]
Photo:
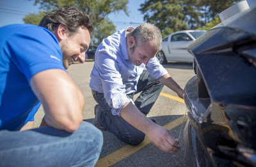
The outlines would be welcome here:
[[[74,61],[84,63],[85,51],[91,40],[88,29],[81,26],[74,35],[70,36],[67,27],[60,24],[57,35],[63,56],[63,66],[67,69]]]

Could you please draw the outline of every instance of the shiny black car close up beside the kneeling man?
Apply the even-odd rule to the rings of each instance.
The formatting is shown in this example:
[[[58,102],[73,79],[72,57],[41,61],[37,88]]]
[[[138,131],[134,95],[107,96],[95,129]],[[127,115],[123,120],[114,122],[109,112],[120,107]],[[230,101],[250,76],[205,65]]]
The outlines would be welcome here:
[[[186,166],[256,166],[256,8],[234,15],[188,47]]]

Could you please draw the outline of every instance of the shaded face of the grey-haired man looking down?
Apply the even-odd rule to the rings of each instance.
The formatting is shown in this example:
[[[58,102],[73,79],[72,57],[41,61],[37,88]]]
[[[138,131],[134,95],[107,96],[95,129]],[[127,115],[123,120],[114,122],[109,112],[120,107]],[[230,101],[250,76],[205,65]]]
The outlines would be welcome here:
[[[148,61],[156,56],[157,49],[153,47],[153,44],[150,41],[136,46],[134,38],[131,36],[127,39],[127,42],[129,42],[127,43],[127,53],[129,59],[136,66],[140,66],[141,63],[147,65]]]

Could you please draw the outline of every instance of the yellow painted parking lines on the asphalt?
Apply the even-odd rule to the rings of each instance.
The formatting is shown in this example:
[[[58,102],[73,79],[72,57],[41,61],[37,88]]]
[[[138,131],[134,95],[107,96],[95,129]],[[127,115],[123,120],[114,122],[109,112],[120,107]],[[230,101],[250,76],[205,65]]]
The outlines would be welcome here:
[[[176,100],[178,102],[184,103],[184,100],[180,99],[179,97],[168,95],[166,93],[160,93],[160,95],[162,95],[164,97],[168,97],[173,100]],[[183,118],[184,118],[184,116],[180,116],[176,120],[173,120],[172,122],[167,123],[163,127],[165,127],[166,129],[168,129],[170,131],[173,128],[179,126],[183,122]],[[186,120],[188,120],[187,116],[186,116]],[[141,148],[147,146],[149,143],[151,143],[150,139],[148,138],[148,136],[145,136],[145,139],[143,140],[142,143],[140,143],[140,145],[138,145],[138,146],[126,145],[125,147],[120,148],[119,150],[116,150],[115,152],[99,159],[99,161],[97,161],[97,163],[95,164],[95,167],[111,166],[115,163],[118,163],[119,161],[122,161],[122,159],[129,157],[129,155],[132,155],[135,152],[137,152],[138,150],[140,150]]]

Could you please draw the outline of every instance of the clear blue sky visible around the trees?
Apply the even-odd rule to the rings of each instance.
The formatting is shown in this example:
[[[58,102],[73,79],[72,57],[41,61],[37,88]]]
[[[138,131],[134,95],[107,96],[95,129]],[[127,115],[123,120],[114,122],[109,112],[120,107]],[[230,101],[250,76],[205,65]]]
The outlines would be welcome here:
[[[28,0],[1,0],[0,1],[0,27],[8,24],[24,24],[23,18],[29,13],[38,13],[38,5],[33,5],[34,1]],[[144,0],[129,0],[127,10],[129,17],[124,12],[111,13],[109,19],[116,26],[116,31],[125,29],[128,26],[137,27],[143,21],[143,15],[138,11],[140,4]]]

